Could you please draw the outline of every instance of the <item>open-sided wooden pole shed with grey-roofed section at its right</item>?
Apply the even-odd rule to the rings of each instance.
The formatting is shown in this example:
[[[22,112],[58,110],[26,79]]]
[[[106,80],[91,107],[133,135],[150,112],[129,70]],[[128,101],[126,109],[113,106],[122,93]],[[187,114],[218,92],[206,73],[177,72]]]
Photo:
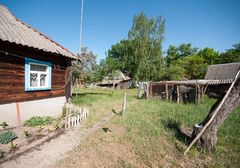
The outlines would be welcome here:
[[[147,98],[159,98],[178,103],[199,103],[204,94],[219,97],[225,94],[240,68],[240,63],[216,64],[208,67],[205,79],[148,82]]]

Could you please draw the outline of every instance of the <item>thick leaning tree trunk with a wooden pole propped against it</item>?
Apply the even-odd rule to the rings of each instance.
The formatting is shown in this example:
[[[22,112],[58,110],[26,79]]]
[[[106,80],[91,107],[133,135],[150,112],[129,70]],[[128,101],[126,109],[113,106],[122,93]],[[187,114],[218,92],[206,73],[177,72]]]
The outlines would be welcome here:
[[[205,120],[199,124],[199,126],[195,126],[192,132],[192,139],[194,139],[198,133],[201,131],[202,127],[209,121],[215,108],[219,105],[223,97],[219,98],[218,101],[212,106],[208,116]],[[229,116],[229,114],[236,109],[240,104],[240,78],[237,80],[235,85],[233,86],[229,96],[226,98],[222,107],[219,109],[217,115],[204,131],[202,136],[197,141],[197,145],[201,147],[203,151],[214,151],[217,143],[217,131],[224,120]]]

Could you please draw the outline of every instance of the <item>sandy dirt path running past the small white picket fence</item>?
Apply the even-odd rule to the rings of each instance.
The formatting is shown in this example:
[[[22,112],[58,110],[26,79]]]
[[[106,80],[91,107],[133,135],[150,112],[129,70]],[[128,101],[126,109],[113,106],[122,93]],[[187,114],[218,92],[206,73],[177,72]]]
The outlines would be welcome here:
[[[4,162],[0,165],[2,168],[46,168],[53,167],[56,162],[66,157],[68,151],[73,150],[88,136],[100,129],[112,117],[113,113],[103,118],[91,128],[75,128],[66,131],[58,138],[45,142],[38,148],[34,148],[30,152],[21,154],[16,159]]]

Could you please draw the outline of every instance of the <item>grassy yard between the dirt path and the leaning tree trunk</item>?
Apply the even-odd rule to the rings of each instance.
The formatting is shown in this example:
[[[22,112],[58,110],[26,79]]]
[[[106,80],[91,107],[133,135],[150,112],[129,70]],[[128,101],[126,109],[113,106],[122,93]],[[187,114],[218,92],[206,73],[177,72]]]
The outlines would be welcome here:
[[[79,90],[73,103],[91,110],[89,125],[121,109],[127,92],[126,116],[115,115],[56,167],[238,167],[240,108],[219,128],[214,154],[192,148],[183,156],[192,127],[207,115],[214,99],[200,105],[136,99],[137,90]]]

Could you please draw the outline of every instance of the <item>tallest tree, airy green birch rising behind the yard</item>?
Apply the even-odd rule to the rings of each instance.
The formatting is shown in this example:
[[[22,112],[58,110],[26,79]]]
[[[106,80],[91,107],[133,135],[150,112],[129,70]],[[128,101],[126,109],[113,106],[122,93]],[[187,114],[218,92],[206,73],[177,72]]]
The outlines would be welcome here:
[[[128,39],[133,45],[133,53],[129,59],[136,65],[137,80],[159,80],[163,75],[163,52],[165,20],[147,18],[143,13],[133,18],[133,26],[128,32]]]

